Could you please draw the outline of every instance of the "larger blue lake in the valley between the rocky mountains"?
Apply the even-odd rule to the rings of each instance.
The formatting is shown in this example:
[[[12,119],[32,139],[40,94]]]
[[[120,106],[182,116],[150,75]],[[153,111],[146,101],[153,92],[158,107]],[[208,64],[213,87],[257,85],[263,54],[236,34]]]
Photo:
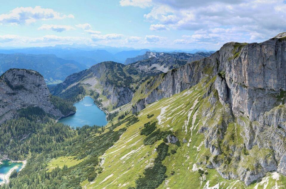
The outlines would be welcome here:
[[[82,127],[84,125],[104,126],[107,124],[106,114],[93,102],[92,97],[84,97],[83,100],[74,104],[75,114],[60,119],[59,122],[71,127]]]

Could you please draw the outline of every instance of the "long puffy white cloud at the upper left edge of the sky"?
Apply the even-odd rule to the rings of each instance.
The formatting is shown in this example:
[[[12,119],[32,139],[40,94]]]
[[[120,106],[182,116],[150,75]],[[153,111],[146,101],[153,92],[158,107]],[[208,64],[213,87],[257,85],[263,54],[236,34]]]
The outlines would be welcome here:
[[[64,15],[55,12],[52,9],[44,9],[40,6],[33,7],[17,7],[8,14],[0,15],[0,23],[2,24],[29,24],[37,20],[64,19],[74,18],[73,15]]]

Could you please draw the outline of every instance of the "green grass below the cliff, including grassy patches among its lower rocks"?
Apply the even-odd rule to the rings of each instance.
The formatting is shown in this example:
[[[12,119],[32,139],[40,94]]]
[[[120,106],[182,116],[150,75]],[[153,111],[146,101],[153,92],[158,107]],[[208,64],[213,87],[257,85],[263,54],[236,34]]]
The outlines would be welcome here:
[[[154,166],[154,160],[157,157],[155,149],[163,142],[163,138],[161,138],[155,141],[154,144],[144,145],[144,139],[152,135],[152,133],[148,136],[140,135],[140,133],[147,122],[157,122],[156,130],[171,131],[179,139],[177,144],[168,144],[168,155],[162,161],[162,165],[166,166],[166,179],[158,188],[189,188],[189,186],[192,186],[192,188],[204,188],[207,183],[208,187],[213,187],[220,183],[219,188],[230,186],[231,188],[250,188],[246,187],[244,182],[237,181],[237,179],[226,180],[215,169],[206,167],[210,158],[213,157],[211,157],[210,149],[205,148],[205,136],[199,130],[204,122],[206,123],[205,127],[212,128],[218,124],[224,124],[225,119],[230,119],[229,114],[225,112],[225,106],[220,104],[219,101],[211,105],[208,97],[202,98],[205,92],[207,92],[208,87],[213,84],[215,78],[209,81],[201,81],[191,89],[149,104],[145,109],[140,111],[137,116],[139,119],[138,122],[133,125],[127,125],[127,122],[125,122],[115,128],[114,131],[124,127],[127,130],[115,145],[100,157],[104,158],[104,163],[101,165],[103,168],[102,173],[98,174],[93,182],[83,181],[81,183],[82,187],[136,187],[135,181],[144,177],[145,169]],[[213,91],[213,95],[217,98],[216,91]],[[162,109],[165,109],[165,111],[162,111]],[[206,109],[210,109],[211,112],[214,111],[214,116],[209,120],[206,120],[205,116],[202,115],[202,112]],[[148,115],[152,114],[154,115],[147,118]],[[242,117],[241,119],[249,122],[248,118]],[[114,120],[117,119],[114,118]],[[237,147],[244,144],[243,129],[236,121],[228,124],[225,131],[219,132],[225,133],[225,138],[217,141],[217,145],[222,148],[224,153],[217,158],[229,157],[226,144]],[[183,138],[187,140],[187,143],[183,143]],[[249,156],[250,154],[256,158],[251,159],[246,157],[248,161],[243,162],[245,166],[251,165],[259,156],[267,156],[268,150],[253,148],[245,156]],[[197,167],[201,167],[208,174],[202,174],[204,175],[202,176],[198,171],[192,171],[194,164],[197,164]],[[226,165],[228,166],[227,170],[235,170],[237,168],[237,162],[235,161],[231,161]],[[205,179],[202,180],[202,177],[205,177]],[[279,182],[283,179],[285,179],[284,176],[280,176]],[[269,185],[271,187],[275,186],[275,182],[271,181]]]

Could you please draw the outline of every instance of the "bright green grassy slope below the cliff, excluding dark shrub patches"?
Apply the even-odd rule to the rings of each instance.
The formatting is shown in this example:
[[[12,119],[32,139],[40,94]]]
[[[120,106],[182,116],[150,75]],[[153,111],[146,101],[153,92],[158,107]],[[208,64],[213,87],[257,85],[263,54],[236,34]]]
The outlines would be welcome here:
[[[103,158],[103,172],[92,182],[85,180],[82,182],[82,186],[84,188],[135,187],[135,180],[143,175],[144,168],[152,166],[154,158],[157,156],[154,149],[162,142],[160,140],[153,145],[145,146],[143,140],[146,136],[140,135],[140,129],[148,121],[160,120],[157,128],[172,130],[179,138],[180,144],[171,144],[169,147],[169,152],[171,149],[175,149],[177,153],[170,153],[163,161],[167,167],[167,178],[159,188],[188,188],[189,186],[204,188],[218,185],[219,188],[245,188],[243,182],[223,179],[216,170],[208,169],[203,164],[196,166],[208,171],[205,179],[200,177],[200,173],[195,168],[196,171],[192,170],[195,167],[194,164],[200,162],[200,157],[210,155],[209,149],[206,149],[203,144],[204,135],[198,133],[200,125],[202,125],[200,109],[209,106],[208,99],[202,99],[207,86],[200,83],[180,94],[148,105],[138,115],[139,122],[129,126],[115,145],[101,157]],[[220,110],[223,106],[218,103],[216,108]],[[148,114],[154,114],[154,116],[148,119]],[[125,124],[120,125],[115,130],[125,127]],[[188,142],[183,143],[183,138]],[[174,171],[173,175],[171,171]],[[260,183],[253,183],[248,188],[253,188],[256,185],[258,188],[285,185],[283,184],[285,177],[278,174],[279,180],[276,181],[273,179],[276,178],[275,175],[276,173],[269,173]]]

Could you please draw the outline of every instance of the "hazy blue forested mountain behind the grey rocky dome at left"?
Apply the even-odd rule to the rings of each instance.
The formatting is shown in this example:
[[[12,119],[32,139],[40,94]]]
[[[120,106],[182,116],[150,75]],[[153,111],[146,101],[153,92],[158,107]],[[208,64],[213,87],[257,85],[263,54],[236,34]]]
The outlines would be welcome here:
[[[53,54],[0,54],[0,73],[10,68],[23,68],[41,73],[47,83],[63,81],[68,75],[86,67],[74,60],[64,60]]]

